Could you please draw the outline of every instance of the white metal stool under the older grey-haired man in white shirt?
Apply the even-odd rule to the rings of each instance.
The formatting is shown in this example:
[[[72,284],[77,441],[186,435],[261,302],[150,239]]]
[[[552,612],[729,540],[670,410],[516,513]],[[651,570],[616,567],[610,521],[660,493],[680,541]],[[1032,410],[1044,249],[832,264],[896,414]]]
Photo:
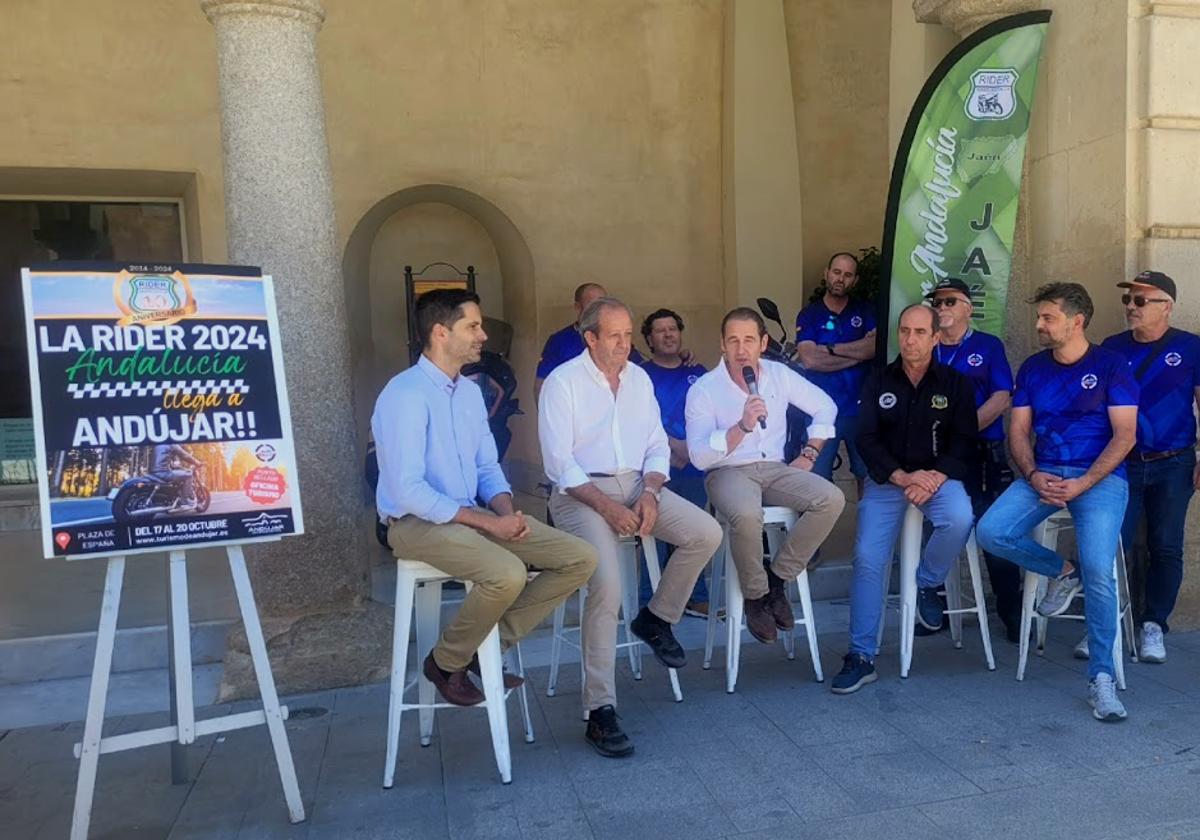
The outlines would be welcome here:
[[[644,642],[630,630],[630,623],[637,617],[638,568],[637,560],[641,553],[646,559],[646,571],[650,578],[650,589],[658,592],[662,571],[659,569],[658,542],[653,536],[623,536],[617,540],[620,552],[620,614],[618,625],[625,628],[625,641],[617,644],[617,650],[624,649],[629,654],[629,667],[634,672],[634,679],[642,678],[642,646]],[[638,551],[641,547],[641,551]],[[550,646],[550,682],[546,684],[546,696],[553,697],[558,691],[558,664],[563,654],[563,644],[570,644],[580,652],[580,696],[587,697],[587,667],[583,661],[583,608],[587,604],[588,587],[580,587],[580,625],[575,628],[564,626],[566,619],[566,601],[563,601],[554,610],[554,635]],[[572,636],[577,638],[572,638]],[[671,680],[671,694],[677,703],[683,701],[683,691],[679,688],[679,672],[676,668],[667,668]],[[583,703],[583,720],[588,719],[587,703]]]

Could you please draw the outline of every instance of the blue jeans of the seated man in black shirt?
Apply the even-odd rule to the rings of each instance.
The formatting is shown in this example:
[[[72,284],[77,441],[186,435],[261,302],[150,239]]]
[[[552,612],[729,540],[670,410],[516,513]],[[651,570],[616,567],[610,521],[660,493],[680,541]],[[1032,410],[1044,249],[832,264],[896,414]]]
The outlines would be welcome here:
[[[884,575],[892,562],[896,536],[904,524],[908,499],[894,484],[866,479],[858,503],[858,536],[854,541],[854,582],[850,588],[850,652],[875,658],[880,622],[883,620]],[[925,544],[917,586],[936,587],[946,580],[971,534],[974,516],[971,497],[961,481],[949,480],[920,511],[934,526]]]

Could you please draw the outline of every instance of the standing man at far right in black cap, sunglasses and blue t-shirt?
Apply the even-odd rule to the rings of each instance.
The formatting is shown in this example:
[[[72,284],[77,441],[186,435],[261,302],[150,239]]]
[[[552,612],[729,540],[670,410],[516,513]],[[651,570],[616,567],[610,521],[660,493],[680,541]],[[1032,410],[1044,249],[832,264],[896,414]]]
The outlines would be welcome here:
[[[1126,461],[1129,506],[1121,538],[1132,553],[1145,520],[1148,563],[1139,659],[1164,662],[1163,635],[1183,582],[1188,502],[1200,480],[1192,412],[1200,403],[1200,336],[1171,326],[1176,288],[1165,274],[1142,271],[1117,286],[1128,289],[1121,302],[1129,329],[1105,338],[1102,347],[1129,360],[1141,389],[1138,445]],[[1076,649],[1086,653],[1082,643]]]

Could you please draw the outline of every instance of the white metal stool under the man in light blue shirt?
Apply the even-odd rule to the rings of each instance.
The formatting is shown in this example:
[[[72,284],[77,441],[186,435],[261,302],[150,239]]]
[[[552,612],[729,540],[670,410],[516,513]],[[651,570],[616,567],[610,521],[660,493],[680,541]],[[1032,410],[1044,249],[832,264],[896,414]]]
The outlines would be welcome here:
[[[418,710],[421,726],[421,746],[428,746],[433,737],[433,714],[436,709],[457,709],[460,706],[436,702],[433,683],[425,678],[421,667],[425,656],[433,649],[438,640],[442,618],[442,584],[456,580],[444,571],[434,569],[419,560],[396,560],[396,614],[391,640],[391,690],[388,702],[388,757],[383,770],[383,786],[391,787],[396,773],[396,758],[400,751],[400,719],[404,712]],[[470,587],[469,581],[463,583]],[[416,662],[415,677],[408,680],[408,642],[412,635],[413,612],[415,606],[416,624]],[[514,672],[523,677],[520,646],[514,644],[509,652],[515,660]],[[484,640],[479,648],[479,671],[484,685],[484,702],[474,708],[487,710],[487,725],[492,732],[492,749],[496,752],[496,766],[500,780],[508,785],[512,781],[512,758],[509,754],[509,719],[506,710],[508,691],[504,689],[504,666],[500,655],[500,634],[497,628]],[[413,684],[418,686],[418,702],[406,703],[404,692]],[[521,712],[524,718],[526,740],[533,742],[533,725],[529,719],[529,706],[524,694],[526,686],[517,689],[521,700]]]

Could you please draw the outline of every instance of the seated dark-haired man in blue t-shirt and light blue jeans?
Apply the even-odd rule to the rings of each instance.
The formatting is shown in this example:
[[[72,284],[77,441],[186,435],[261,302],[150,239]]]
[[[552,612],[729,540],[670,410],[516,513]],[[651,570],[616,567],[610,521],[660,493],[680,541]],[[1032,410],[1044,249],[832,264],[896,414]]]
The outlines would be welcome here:
[[[1038,342],[1016,373],[1009,445],[1021,478],[976,528],[979,547],[1050,578],[1037,608],[1057,616],[1082,588],[1091,648],[1088,702],[1097,720],[1123,720],[1112,682],[1117,593],[1112,574],[1129,485],[1124,458],[1138,436],[1138,383],[1124,356],[1088,342],[1092,299],[1079,283],[1037,290]],[[1037,444],[1031,443],[1037,436]],[[1066,508],[1080,568],[1030,536]]]

